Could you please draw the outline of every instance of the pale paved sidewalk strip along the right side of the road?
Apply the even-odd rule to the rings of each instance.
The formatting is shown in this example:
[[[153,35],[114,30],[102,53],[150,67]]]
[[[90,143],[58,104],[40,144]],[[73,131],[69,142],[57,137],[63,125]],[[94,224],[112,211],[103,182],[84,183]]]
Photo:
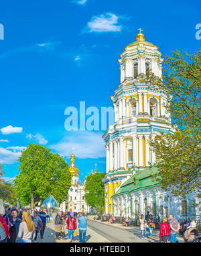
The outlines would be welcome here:
[[[141,237],[141,230],[140,230],[139,226],[127,226],[127,227],[125,227],[125,226],[122,226],[122,224],[120,224],[120,223],[109,224],[109,222],[101,222],[100,220],[93,220],[93,218],[94,218],[94,216],[88,216],[88,219],[92,220],[93,222],[99,222],[99,223],[105,224],[107,226],[113,226],[113,227],[115,227],[119,230],[122,229],[122,230],[127,230],[129,232],[132,232],[137,237],[136,241],[133,241],[133,242],[134,243],[139,242],[139,238]],[[140,239],[140,241],[141,241],[141,239]],[[149,242],[149,243],[150,242],[159,243],[159,241],[160,241],[160,239],[159,239],[159,230],[154,229],[153,234],[152,234],[152,239],[147,239],[147,240],[144,240],[144,241]],[[178,241],[180,243],[184,243],[184,239],[182,237],[179,237],[179,236],[178,236]]]

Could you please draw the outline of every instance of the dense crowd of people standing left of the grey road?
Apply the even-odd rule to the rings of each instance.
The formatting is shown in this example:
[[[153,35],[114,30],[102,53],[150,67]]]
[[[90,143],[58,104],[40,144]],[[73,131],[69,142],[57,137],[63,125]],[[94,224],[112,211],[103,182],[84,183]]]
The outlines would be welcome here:
[[[65,237],[64,226],[68,229],[68,242],[74,241],[77,236],[77,216],[79,228],[79,240],[86,242],[87,214],[58,211],[52,214],[55,228],[55,239]],[[0,243],[31,243],[40,238],[44,238],[46,223],[50,222],[50,212],[47,208],[41,211],[33,208],[9,208],[0,206]]]

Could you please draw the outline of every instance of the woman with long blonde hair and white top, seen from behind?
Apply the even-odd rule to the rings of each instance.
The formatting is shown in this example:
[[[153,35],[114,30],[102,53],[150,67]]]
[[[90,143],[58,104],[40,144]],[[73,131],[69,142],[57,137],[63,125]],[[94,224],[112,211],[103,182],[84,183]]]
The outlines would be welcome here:
[[[24,210],[22,213],[22,221],[19,225],[19,232],[17,234],[17,243],[31,243],[34,241],[36,234],[36,227],[34,221],[29,214],[29,211]]]

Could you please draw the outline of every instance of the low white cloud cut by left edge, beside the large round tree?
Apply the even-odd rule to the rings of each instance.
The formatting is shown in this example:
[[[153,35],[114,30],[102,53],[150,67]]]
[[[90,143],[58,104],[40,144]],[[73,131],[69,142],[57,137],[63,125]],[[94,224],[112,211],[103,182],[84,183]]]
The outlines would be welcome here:
[[[15,148],[13,150],[13,148]],[[0,147],[0,164],[11,165],[17,162],[17,159],[21,156],[21,147],[13,147],[11,150],[8,148]],[[24,147],[25,148],[25,147]]]

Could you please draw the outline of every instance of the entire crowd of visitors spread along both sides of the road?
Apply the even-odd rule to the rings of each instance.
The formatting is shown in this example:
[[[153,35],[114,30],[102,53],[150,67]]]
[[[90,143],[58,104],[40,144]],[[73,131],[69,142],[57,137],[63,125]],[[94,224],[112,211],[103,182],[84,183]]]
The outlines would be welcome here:
[[[86,242],[87,214],[74,212],[54,212],[52,220],[55,228],[55,239],[63,239],[65,237],[65,226],[68,230],[68,242],[74,241],[77,236],[77,228],[79,229],[79,241]],[[78,220],[76,219],[78,218]],[[106,216],[105,216],[106,218]],[[102,216],[97,214],[96,220],[102,220]],[[50,222],[50,212],[47,208],[43,210],[35,210],[33,208],[9,208],[0,206],[0,243],[31,243],[37,240],[38,234],[40,238],[44,238],[46,223]],[[77,226],[78,222],[78,226]],[[115,216],[109,216],[109,223],[115,222]],[[161,243],[178,243],[178,234],[184,237],[186,230],[196,228],[194,218],[183,219],[179,222],[174,218],[173,214],[167,218],[163,218],[163,223],[159,227],[159,239]],[[122,226],[129,226],[131,218],[125,217]],[[151,239],[155,222],[153,215],[147,214],[139,219],[141,230],[141,239]]]

